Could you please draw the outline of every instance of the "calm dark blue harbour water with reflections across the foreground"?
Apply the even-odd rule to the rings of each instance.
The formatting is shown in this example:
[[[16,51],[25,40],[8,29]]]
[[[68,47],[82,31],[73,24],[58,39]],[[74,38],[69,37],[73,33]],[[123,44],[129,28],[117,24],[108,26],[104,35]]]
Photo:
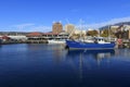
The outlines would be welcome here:
[[[0,87],[130,87],[130,49],[0,46]]]

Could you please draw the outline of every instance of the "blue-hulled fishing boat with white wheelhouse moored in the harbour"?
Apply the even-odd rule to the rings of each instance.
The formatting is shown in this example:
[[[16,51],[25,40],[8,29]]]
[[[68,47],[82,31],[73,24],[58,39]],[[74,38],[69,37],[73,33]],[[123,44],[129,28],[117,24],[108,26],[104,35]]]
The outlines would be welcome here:
[[[66,46],[69,49],[87,49],[87,50],[98,50],[98,49],[114,49],[115,42],[105,41],[103,37],[95,37],[93,42],[84,42],[81,40],[66,40]]]

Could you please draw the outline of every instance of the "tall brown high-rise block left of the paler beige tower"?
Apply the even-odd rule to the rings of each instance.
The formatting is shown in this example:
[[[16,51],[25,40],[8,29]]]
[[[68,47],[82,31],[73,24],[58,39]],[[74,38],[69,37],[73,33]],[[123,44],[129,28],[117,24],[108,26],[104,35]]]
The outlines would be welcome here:
[[[60,33],[62,33],[62,30],[63,30],[62,23],[60,23],[60,22],[53,23],[53,26],[52,26],[53,34],[60,34]]]

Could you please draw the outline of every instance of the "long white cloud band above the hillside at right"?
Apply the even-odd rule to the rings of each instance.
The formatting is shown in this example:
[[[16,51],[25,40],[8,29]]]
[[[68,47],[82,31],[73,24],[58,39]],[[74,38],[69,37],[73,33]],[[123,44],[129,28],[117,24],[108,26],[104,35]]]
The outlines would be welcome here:
[[[114,25],[116,23],[120,23],[120,22],[130,22],[130,16],[129,17],[121,17],[121,18],[113,18],[110,21],[107,22],[102,22],[102,23],[93,23],[93,24],[83,24],[82,26],[77,25],[77,28],[82,28],[82,29],[87,29],[87,28],[94,28],[98,29],[100,27],[106,26],[106,25]]]

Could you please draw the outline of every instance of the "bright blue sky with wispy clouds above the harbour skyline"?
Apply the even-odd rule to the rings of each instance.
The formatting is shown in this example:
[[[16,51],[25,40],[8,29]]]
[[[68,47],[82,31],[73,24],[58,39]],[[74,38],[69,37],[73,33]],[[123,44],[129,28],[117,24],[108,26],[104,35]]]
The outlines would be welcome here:
[[[54,22],[83,29],[130,21],[130,0],[0,0],[0,32],[50,32]]]

